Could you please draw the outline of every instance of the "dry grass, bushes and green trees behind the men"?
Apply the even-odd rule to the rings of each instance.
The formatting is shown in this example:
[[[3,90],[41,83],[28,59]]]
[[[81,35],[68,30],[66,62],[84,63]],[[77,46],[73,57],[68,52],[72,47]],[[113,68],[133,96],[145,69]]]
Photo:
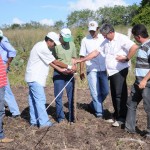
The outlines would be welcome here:
[[[102,23],[111,23],[117,32],[127,34],[128,29],[136,23],[143,23],[148,28],[150,33],[150,1],[142,0],[140,6],[134,4],[132,6],[114,6],[99,8],[97,11],[82,10],[74,11],[67,17],[67,22],[57,21],[54,26],[42,26],[38,22],[31,21],[23,25],[13,24],[4,25],[2,30],[12,45],[17,50],[17,56],[11,64],[11,71],[9,79],[13,86],[26,86],[24,81],[25,69],[29,58],[30,50],[33,45],[41,40],[44,40],[45,35],[50,31],[59,33],[59,30],[65,25],[68,26],[74,37],[74,42],[79,54],[80,43],[82,38],[88,34],[88,22],[90,20],[98,21],[101,26]],[[131,37],[133,39],[133,37]],[[133,39],[134,40],[134,39]],[[134,64],[135,57],[132,58],[132,69],[128,75],[128,84],[131,84],[134,79]],[[47,84],[52,83],[52,71],[47,79]],[[87,87],[87,81],[81,82],[78,80],[79,87]]]

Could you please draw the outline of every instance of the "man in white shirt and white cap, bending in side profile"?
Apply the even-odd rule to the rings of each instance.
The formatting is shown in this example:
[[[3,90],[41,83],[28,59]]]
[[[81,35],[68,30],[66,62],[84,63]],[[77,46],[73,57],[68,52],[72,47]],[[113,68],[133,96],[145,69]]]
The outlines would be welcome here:
[[[33,126],[52,126],[45,108],[44,86],[49,72],[49,65],[60,72],[65,72],[66,69],[63,68],[68,68],[68,65],[56,60],[50,51],[55,45],[59,44],[58,34],[49,32],[45,37],[45,41],[35,44],[30,53],[25,81],[29,86],[30,124]]]

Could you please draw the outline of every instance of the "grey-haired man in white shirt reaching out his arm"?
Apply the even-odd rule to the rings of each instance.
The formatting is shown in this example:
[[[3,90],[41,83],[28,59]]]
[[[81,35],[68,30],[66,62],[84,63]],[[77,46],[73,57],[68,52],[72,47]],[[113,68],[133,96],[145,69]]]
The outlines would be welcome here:
[[[100,32],[106,38],[100,48],[86,57],[76,60],[76,63],[90,60],[99,54],[106,56],[106,69],[110,79],[111,96],[115,110],[113,115],[115,122],[112,125],[117,127],[125,122],[128,96],[126,84],[128,61],[135,54],[138,46],[127,36],[115,32],[110,24],[103,24]]]

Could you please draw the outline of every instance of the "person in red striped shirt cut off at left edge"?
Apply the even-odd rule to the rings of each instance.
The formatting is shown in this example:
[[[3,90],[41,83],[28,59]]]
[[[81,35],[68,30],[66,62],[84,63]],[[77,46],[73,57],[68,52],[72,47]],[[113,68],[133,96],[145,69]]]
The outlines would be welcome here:
[[[5,114],[4,94],[5,94],[6,84],[7,84],[6,68],[3,64],[3,61],[0,55],[0,143],[9,143],[13,141],[13,139],[9,139],[4,136],[4,131],[2,127],[3,116]]]

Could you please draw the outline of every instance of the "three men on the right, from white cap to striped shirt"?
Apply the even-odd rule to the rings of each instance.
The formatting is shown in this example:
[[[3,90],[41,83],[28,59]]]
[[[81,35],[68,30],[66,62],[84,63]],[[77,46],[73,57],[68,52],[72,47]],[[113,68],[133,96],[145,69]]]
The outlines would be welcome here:
[[[150,39],[148,31],[143,24],[133,26],[132,35],[140,44],[138,46],[127,36],[115,32],[111,24],[105,23],[100,28],[104,39],[97,46],[98,29],[97,22],[89,23],[90,34],[81,42],[81,58],[75,60],[75,63],[80,63],[81,79],[84,77],[82,62],[86,61],[87,79],[92,96],[90,107],[94,110],[96,117],[103,118],[103,97],[108,94],[105,66],[114,108],[113,117],[108,119],[108,122],[112,122],[114,127],[125,124],[127,132],[136,133],[136,109],[143,99],[147,114],[145,136],[150,137]],[[129,60],[135,54],[137,54],[136,79],[128,97],[126,78],[130,66]]]

